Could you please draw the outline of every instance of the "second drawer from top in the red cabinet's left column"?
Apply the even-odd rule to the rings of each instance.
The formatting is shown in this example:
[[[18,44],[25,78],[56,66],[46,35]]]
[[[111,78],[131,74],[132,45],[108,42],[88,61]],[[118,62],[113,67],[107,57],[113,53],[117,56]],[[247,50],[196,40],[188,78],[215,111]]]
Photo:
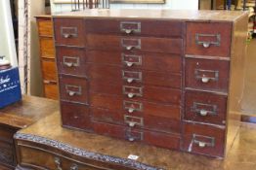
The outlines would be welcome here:
[[[86,76],[85,62],[86,55],[84,49],[57,48],[59,73],[84,77]]]

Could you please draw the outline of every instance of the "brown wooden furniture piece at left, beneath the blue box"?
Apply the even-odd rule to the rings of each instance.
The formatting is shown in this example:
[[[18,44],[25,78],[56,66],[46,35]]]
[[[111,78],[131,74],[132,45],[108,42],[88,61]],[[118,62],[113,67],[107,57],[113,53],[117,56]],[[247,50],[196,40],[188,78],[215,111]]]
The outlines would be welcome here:
[[[58,109],[57,101],[31,96],[0,109],[0,169],[16,167],[14,134]]]

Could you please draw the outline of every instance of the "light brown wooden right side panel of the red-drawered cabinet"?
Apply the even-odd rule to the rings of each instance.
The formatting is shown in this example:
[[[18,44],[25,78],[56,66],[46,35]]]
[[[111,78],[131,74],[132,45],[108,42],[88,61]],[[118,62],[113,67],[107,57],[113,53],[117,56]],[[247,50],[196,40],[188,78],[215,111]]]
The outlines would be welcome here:
[[[245,59],[246,59],[246,37],[248,17],[244,15],[237,19],[233,25],[233,40],[231,49],[231,75],[228,99],[227,118],[227,150],[232,147],[235,135],[239,128],[241,99],[244,88]]]

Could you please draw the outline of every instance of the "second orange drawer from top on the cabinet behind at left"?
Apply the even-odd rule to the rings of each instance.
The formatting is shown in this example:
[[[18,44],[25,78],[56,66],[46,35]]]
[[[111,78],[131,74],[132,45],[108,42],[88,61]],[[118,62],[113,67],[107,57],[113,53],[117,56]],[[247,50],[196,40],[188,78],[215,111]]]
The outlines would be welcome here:
[[[55,49],[53,38],[40,38],[41,57],[55,58]]]

